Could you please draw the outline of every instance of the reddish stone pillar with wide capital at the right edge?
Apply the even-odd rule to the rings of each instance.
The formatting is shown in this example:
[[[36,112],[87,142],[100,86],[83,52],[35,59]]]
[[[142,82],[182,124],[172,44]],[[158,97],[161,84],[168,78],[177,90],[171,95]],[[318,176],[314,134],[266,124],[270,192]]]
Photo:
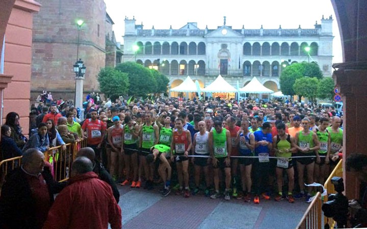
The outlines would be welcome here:
[[[349,199],[358,199],[359,188],[356,177],[345,169],[345,159],[353,153],[367,154],[367,141],[365,135],[361,134],[367,129],[367,122],[365,122],[367,113],[365,105],[367,104],[366,67],[366,64],[358,66],[356,62],[355,66],[339,67],[333,73],[344,104],[343,179]]]

